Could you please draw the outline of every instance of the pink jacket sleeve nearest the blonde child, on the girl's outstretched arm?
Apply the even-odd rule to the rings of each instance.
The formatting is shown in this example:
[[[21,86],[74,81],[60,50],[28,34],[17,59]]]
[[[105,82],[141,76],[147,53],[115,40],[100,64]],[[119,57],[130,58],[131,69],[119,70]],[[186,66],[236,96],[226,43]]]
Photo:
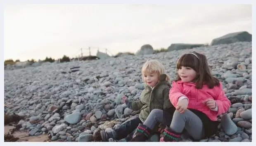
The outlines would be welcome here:
[[[185,96],[184,94],[182,94],[182,90],[182,87],[179,87],[178,83],[176,83],[175,81],[172,82],[172,88],[169,92],[169,99],[174,107],[176,107],[178,104],[178,98],[180,96]]]

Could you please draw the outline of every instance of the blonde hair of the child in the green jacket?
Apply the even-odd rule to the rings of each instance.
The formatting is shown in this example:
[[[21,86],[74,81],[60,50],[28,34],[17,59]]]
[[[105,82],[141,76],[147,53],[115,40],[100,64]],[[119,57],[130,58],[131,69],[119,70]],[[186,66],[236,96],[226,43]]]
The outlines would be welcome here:
[[[142,66],[141,73],[142,73],[142,80],[144,81],[143,74],[149,72],[149,73],[157,73],[158,77],[160,78],[161,74],[166,74],[166,81],[170,80],[170,77],[166,73],[166,70],[164,68],[164,65],[160,63],[158,60],[149,59],[147,60],[144,65]]]

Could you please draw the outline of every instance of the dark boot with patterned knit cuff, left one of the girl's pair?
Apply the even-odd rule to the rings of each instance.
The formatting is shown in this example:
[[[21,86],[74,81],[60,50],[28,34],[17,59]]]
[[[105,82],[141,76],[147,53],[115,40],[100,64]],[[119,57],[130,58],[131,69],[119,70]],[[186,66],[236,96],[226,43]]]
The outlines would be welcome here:
[[[139,124],[139,126],[135,129],[135,133],[133,134],[133,138],[129,142],[145,142],[146,139],[149,138],[151,130],[149,127]]]

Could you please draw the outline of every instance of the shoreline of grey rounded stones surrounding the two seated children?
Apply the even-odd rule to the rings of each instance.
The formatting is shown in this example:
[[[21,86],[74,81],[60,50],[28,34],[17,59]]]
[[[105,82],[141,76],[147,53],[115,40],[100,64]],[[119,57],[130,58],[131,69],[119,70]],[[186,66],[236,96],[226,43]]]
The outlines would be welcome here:
[[[164,64],[171,79],[178,57],[188,51],[204,53],[212,74],[223,83],[232,102],[213,137],[201,141],[251,141],[251,42],[202,46],[142,56],[106,60],[43,63],[37,67],[5,70],[7,114],[26,116],[20,131],[30,136],[48,134],[52,141],[100,141],[100,130],[111,131],[136,116],[121,97],[139,100],[143,90],[142,64],[149,58]],[[79,67],[76,72],[64,72]],[[64,73],[63,73],[64,72]],[[152,138],[152,141],[157,141]],[[183,137],[183,141],[191,139]]]

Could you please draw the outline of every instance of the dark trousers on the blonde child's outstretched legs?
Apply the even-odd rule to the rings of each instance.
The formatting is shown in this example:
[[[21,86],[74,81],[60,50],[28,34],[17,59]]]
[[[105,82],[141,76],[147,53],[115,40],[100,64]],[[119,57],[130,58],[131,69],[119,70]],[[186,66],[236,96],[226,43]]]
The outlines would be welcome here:
[[[133,131],[138,127],[139,123],[142,123],[142,121],[140,121],[140,118],[137,117],[122,124],[118,129],[115,130],[116,139],[120,140],[126,138],[126,140],[130,140],[133,137]]]

